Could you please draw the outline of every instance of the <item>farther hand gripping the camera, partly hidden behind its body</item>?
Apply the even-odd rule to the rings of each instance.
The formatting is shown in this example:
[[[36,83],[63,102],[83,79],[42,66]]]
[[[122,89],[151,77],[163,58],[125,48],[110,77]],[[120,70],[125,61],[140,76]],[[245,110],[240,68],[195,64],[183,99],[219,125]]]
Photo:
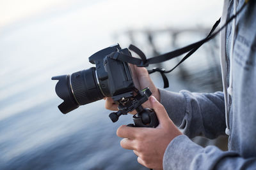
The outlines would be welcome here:
[[[137,89],[142,90],[145,87],[148,87],[150,91],[152,92],[152,96],[155,96],[157,101],[160,100],[160,94],[157,87],[154,85],[153,81],[151,80],[148,71],[145,67],[137,67],[132,64],[129,65],[131,67],[132,71],[132,80],[134,82],[134,85]],[[105,108],[108,110],[118,110],[117,106],[118,104],[114,103],[113,99],[111,97],[105,97],[106,100]],[[150,108],[149,101],[142,104],[144,108]],[[132,112],[133,114],[136,113],[135,111]]]

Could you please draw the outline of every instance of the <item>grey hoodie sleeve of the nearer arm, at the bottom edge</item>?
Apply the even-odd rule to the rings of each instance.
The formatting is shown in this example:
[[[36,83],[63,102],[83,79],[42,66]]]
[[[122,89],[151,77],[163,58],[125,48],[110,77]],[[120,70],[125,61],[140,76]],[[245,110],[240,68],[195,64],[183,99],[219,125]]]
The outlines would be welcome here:
[[[172,140],[164,152],[163,168],[171,169],[255,169],[256,157],[243,158],[238,153],[223,152],[216,146],[202,148],[188,136]]]

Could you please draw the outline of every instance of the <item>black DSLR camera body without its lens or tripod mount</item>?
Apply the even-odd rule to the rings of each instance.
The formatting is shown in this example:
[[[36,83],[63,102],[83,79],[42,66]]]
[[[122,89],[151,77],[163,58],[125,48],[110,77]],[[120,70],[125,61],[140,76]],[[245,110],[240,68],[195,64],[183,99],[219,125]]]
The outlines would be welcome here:
[[[117,44],[94,53],[89,57],[89,61],[96,64],[96,76],[103,96],[113,97],[115,101],[118,101],[120,94],[130,94],[132,92],[134,83],[127,62],[121,62],[109,56],[115,52],[131,56],[131,52],[127,48],[122,49]]]

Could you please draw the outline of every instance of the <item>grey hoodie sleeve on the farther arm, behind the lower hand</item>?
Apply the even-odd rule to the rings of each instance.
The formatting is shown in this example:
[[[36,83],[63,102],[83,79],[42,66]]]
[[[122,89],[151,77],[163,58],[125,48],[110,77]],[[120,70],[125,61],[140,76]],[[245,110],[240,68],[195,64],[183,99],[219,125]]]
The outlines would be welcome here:
[[[225,104],[223,92],[179,93],[159,89],[161,104],[169,117],[189,138],[209,139],[225,134]]]

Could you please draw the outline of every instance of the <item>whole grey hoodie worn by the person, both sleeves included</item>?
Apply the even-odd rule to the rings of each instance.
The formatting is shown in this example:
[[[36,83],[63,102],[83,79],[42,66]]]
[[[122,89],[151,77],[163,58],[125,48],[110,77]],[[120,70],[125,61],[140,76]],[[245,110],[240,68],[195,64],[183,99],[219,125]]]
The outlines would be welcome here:
[[[222,24],[244,0],[225,0]],[[256,169],[256,1],[221,32],[223,92],[161,90],[161,103],[184,129],[166,148],[164,169]],[[189,138],[228,134],[228,151],[201,146]]]

